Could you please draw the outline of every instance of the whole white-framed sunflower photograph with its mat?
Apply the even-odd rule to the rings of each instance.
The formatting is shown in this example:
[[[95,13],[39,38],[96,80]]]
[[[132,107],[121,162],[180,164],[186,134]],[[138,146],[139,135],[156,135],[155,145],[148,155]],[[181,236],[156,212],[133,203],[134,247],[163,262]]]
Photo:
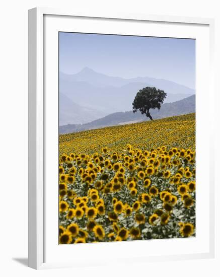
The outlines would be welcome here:
[[[29,10],[29,266],[214,256],[213,20]]]

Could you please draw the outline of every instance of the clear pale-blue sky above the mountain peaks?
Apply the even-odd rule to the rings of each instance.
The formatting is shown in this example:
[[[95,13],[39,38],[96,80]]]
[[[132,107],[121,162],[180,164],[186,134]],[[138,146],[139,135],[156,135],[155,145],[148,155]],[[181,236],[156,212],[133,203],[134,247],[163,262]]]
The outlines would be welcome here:
[[[108,76],[153,77],[195,89],[195,40],[59,33],[59,70],[84,67]]]

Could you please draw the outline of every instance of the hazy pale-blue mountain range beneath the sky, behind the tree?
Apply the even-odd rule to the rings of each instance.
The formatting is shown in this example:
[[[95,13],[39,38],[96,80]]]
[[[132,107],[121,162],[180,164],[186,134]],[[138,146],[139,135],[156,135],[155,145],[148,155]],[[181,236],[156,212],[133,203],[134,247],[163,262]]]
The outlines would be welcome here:
[[[84,124],[114,112],[132,109],[136,93],[154,86],[167,93],[165,103],[195,94],[193,89],[150,77],[124,79],[97,73],[85,67],[73,75],[59,73],[59,125]]]

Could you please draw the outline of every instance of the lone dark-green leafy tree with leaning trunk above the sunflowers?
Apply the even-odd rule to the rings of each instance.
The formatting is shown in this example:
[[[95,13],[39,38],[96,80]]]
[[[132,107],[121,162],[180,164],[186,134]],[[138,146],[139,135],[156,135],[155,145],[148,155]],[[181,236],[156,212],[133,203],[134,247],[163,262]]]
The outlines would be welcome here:
[[[133,113],[139,110],[141,114],[145,114],[151,120],[153,120],[149,110],[159,109],[161,104],[164,103],[164,99],[167,97],[166,92],[157,90],[155,87],[146,87],[136,94],[133,105]]]

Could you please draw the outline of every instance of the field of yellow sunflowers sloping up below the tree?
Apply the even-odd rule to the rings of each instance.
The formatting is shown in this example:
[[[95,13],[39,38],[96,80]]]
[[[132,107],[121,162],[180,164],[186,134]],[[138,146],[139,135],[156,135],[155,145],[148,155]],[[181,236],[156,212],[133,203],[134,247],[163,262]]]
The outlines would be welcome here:
[[[59,243],[195,236],[195,114],[59,137]]]

